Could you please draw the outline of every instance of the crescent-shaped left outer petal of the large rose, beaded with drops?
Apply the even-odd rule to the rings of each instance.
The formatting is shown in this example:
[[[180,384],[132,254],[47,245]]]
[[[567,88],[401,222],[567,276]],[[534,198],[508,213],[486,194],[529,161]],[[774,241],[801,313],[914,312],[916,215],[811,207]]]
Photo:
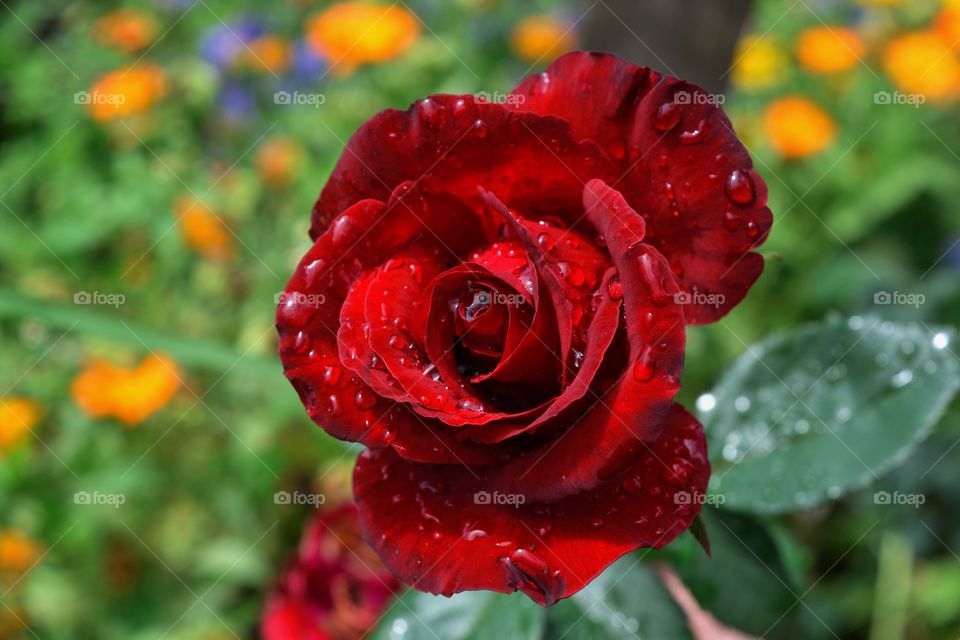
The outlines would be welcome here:
[[[423,233],[403,206],[365,200],[337,218],[294,271],[277,308],[280,358],[307,413],[330,435],[392,446],[422,462],[488,464],[489,447],[458,442],[442,425],[394,407],[345,369],[337,331],[348,293],[364,271]]]

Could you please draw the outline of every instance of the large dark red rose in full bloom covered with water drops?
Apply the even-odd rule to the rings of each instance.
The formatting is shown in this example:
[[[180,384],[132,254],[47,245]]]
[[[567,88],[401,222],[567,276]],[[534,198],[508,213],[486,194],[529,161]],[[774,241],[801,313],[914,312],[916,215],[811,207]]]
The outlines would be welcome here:
[[[350,140],[280,354],[310,416],[369,447],[361,528],[400,579],[551,604],[699,512],[684,324],[743,298],[771,223],[715,102],[572,53],[504,100],[432,96]]]

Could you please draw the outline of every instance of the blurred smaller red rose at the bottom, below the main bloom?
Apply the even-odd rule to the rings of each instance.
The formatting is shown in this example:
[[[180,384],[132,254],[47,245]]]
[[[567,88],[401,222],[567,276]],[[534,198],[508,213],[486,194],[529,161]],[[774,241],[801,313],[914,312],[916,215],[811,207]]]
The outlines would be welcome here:
[[[267,598],[263,640],[346,640],[373,626],[400,585],[359,533],[350,504],[307,525]]]

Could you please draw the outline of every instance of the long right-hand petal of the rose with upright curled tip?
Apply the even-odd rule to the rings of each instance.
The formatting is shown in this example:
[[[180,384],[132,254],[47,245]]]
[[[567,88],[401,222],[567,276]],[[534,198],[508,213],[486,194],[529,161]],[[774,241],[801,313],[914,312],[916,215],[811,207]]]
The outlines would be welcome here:
[[[619,274],[629,354],[625,370],[569,430],[515,458],[491,476],[504,493],[524,492],[549,502],[597,486],[622,465],[639,442],[659,437],[663,419],[680,388],[683,313],[666,260],[642,242],[643,223],[623,198],[599,180],[587,183],[584,207],[607,238]],[[591,398],[591,401],[593,398]]]

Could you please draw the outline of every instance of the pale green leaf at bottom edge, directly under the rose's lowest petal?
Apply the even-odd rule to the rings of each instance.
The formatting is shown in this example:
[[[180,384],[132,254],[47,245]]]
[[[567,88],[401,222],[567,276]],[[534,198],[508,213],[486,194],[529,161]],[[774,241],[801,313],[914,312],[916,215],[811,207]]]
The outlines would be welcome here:
[[[540,640],[544,609],[521,593],[465,591],[452,598],[410,589],[391,605],[374,640]]]

